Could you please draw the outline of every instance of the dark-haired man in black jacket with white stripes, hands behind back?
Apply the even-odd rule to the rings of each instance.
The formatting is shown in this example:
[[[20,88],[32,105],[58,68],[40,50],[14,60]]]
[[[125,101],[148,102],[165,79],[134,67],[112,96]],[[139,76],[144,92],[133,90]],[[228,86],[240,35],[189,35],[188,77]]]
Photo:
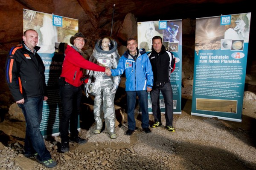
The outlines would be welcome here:
[[[154,75],[154,86],[151,90],[152,111],[154,115],[154,124],[152,127],[159,127],[161,123],[161,112],[159,104],[160,90],[163,94],[165,103],[165,118],[166,129],[170,132],[175,132],[172,125],[173,120],[173,101],[172,101],[172,85],[170,83],[171,73],[175,69],[174,55],[166,51],[165,46],[162,44],[162,37],[154,36],[152,38],[152,52],[148,53],[150,63]]]

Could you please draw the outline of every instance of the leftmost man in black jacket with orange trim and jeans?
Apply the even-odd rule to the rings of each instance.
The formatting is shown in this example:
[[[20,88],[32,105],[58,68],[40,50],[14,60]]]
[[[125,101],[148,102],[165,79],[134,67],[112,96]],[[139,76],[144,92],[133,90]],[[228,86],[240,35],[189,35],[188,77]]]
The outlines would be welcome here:
[[[55,167],[57,163],[45,147],[40,132],[43,101],[48,99],[44,63],[37,51],[40,47],[38,33],[33,29],[24,32],[23,42],[9,52],[6,61],[6,81],[12,96],[22,109],[26,119],[25,156],[37,156],[38,162],[45,167]]]

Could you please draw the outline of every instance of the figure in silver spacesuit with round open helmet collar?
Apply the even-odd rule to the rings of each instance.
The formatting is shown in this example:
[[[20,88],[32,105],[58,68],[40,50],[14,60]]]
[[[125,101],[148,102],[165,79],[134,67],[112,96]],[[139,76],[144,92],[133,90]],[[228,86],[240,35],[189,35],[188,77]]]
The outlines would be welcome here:
[[[119,58],[116,41],[111,37],[103,37],[95,44],[93,54],[90,56],[89,61],[97,63],[100,66],[116,69]],[[87,97],[89,93],[95,96],[93,113],[96,121],[96,130],[93,133],[101,133],[104,118],[105,127],[108,130],[110,138],[117,138],[115,133],[116,115],[114,98],[121,76],[107,76],[103,72],[94,72],[91,70],[87,70],[87,75],[90,75],[92,78],[89,78],[88,83],[85,85],[85,93]],[[93,82],[92,80],[94,78],[95,81]]]

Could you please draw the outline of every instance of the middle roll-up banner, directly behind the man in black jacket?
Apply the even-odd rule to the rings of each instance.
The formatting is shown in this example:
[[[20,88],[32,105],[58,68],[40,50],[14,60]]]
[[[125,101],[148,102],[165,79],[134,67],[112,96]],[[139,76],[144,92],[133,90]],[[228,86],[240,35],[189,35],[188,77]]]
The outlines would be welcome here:
[[[152,38],[162,37],[166,50],[175,56],[175,70],[171,74],[174,114],[181,114],[181,51],[182,51],[182,20],[164,20],[138,22],[138,48],[151,52]],[[163,95],[160,92],[160,110],[165,113]],[[148,112],[152,114],[151,97],[148,93]]]

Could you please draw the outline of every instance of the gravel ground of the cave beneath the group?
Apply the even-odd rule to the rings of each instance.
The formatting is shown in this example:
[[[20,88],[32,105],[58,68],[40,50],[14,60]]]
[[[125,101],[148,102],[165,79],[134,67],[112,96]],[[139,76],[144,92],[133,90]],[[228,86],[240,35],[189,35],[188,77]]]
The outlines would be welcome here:
[[[184,101],[183,101],[184,102]],[[55,170],[255,170],[256,101],[244,101],[242,122],[190,115],[191,100],[185,100],[181,115],[174,115],[175,133],[164,126],[145,134],[137,120],[137,130],[125,135],[127,124],[116,128],[118,138],[103,131],[94,135],[82,129],[86,144],[70,143],[70,151],[60,153],[60,138],[46,140]],[[126,114],[125,114],[126,116]],[[140,116],[138,116],[140,117]],[[126,122],[125,117],[125,122]],[[150,124],[153,116],[150,115]],[[165,125],[164,115],[162,123]],[[1,148],[1,147],[0,147]],[[25,158],[17,141],[0,150],[0,170],[44,170],[35,158]]]

